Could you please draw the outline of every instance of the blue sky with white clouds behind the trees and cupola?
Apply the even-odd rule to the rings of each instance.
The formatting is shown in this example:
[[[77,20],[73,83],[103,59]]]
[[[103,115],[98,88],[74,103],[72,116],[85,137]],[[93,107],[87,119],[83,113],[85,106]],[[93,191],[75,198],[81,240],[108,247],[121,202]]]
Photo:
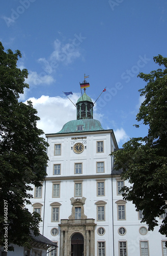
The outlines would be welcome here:
[[[166,57],[166,0],[7,0],[1,3],[0,41],[5,50],[20,50],[18,67],[29,71],[31,99],[44,133],[59,132],[76,119],[75,106],[84,74],[95,101],[94,118],[113,129],[119,144],[145,136],[136,129],[146,83],[139,72],[158,69],[153,56]]]

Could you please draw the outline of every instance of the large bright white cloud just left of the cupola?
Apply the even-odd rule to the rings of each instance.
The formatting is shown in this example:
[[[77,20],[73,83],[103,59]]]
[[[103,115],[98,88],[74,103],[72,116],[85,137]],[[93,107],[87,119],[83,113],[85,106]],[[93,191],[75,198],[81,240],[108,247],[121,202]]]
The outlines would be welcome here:
[[[73,94],[70,99],[76,103],[79,94]],[[40,121],[37,127],[44,133],[57,133],[63,125],[70,120],[76,119],[76,108],[67,97],[49,97],[42,95],[40,98],[29,98],[34,108],[38,111]]]

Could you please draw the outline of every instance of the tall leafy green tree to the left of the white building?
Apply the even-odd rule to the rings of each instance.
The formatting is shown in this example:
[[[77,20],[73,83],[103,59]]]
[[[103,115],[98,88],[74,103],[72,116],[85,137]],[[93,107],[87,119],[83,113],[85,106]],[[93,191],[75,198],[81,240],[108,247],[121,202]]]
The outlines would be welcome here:
[[[4,51],[0,42],[0,244],[4,244],[4,227],[8,227],[8,244],[30,246],[30,230],[39,233],[40,216],[24,205],[32,198],[31,184],[41,186],[46,176],[47,142],[36,126],[37,111],[32,102],[19,101],[28,76],[17,68],[20,51]],[[4,212],[4,205],[8,212]],[[6,209],[6,208],[5,208]],[[4,215],[5,214],[5,215]],[[4,220],[5,219],[5,220]],[[6,223],[7,222],[7,223]]]

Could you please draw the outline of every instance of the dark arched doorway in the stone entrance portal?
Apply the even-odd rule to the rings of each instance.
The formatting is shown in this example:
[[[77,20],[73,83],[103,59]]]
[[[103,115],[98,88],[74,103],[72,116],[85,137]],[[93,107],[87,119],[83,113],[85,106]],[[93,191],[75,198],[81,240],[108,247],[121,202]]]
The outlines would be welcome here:
[[[74,233],[71,237],[71,256],[84,255],[84,237],[81,233]]]

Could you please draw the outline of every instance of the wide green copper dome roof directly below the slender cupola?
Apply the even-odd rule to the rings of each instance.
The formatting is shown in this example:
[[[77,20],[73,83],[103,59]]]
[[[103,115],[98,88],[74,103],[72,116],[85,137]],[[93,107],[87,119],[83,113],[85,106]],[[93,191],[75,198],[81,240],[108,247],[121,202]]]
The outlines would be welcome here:
[[[79,129],[79,130],[78,130]],[[72,120],[63,125],[62,130],[57,134],[64,133],[83,133],[83,132],[94,132],[104,131],[101,123],[95,119],[79,119]]]

